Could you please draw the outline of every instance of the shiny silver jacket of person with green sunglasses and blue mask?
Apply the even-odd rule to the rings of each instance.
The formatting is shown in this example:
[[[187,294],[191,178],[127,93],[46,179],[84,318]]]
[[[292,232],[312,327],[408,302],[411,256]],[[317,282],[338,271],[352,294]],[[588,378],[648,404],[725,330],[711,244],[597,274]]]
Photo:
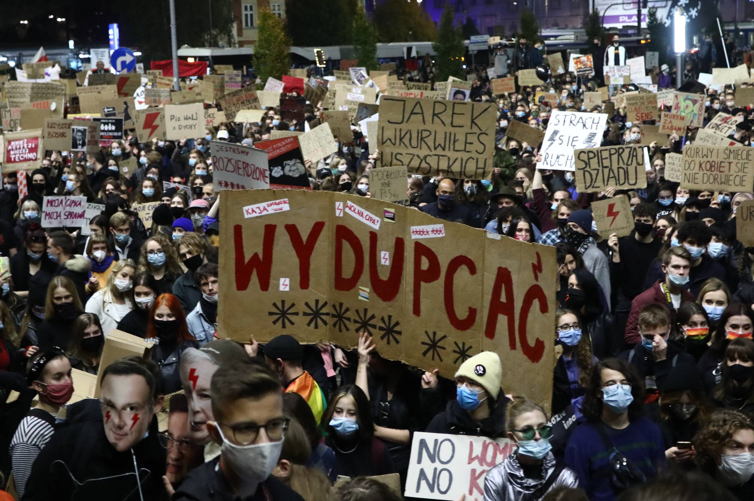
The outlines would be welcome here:
[[[540,493],[536,497],[533,494],[555,470],[553,453],[548,452],[544,457],[542,469],[544,478],[536,480],[526,478],[516,458],[516,453],[510,454],[502,463],[487,472],[484,481],[484,501],[538,501],[542,499],[546,493]],[[578,478],[572,469],[562,469],[559,477],[547,490],[561,486],[578,487]]]

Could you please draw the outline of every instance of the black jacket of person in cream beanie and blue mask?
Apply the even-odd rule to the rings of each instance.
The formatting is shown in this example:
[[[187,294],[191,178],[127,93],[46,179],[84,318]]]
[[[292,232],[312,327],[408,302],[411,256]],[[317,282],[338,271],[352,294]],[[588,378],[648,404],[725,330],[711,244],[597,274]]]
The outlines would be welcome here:
[[[510,400],[502,392],[498,395],[500,402],[489,417],[476,423],[469,413],[464,411],[458,401],[448,402],[445,411],[435,416],[427,429],[428,433],[446,433],[450,435],[474,435],[477,437],[502,438],[505,436],[505,408]]]

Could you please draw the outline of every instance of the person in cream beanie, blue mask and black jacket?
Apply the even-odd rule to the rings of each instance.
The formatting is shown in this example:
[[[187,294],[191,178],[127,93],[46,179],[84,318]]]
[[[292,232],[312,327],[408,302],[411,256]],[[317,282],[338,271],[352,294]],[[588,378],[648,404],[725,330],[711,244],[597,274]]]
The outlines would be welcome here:
[[[431,420],[425,431],[504,437],[505,408],[510,399],[501,393],[502,373],[500,357],[492,351],[463,362],[455,373],[455,400]]]

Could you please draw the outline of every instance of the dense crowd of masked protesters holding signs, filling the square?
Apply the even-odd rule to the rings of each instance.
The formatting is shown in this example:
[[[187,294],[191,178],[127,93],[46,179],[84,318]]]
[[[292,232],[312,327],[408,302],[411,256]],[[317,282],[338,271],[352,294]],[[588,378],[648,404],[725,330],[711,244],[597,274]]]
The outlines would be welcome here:
[[[0,499],[754,499],[749,54],[513,44],[4,81]]]

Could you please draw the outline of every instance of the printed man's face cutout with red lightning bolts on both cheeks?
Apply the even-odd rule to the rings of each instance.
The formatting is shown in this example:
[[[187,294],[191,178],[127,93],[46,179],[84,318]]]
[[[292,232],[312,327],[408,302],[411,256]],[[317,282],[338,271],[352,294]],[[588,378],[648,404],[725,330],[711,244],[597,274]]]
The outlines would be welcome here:
[[[105,435],[118,452],[136,445],[157,411],[149,385],[137,374],[110,374],[102,382],[102,417]]]

